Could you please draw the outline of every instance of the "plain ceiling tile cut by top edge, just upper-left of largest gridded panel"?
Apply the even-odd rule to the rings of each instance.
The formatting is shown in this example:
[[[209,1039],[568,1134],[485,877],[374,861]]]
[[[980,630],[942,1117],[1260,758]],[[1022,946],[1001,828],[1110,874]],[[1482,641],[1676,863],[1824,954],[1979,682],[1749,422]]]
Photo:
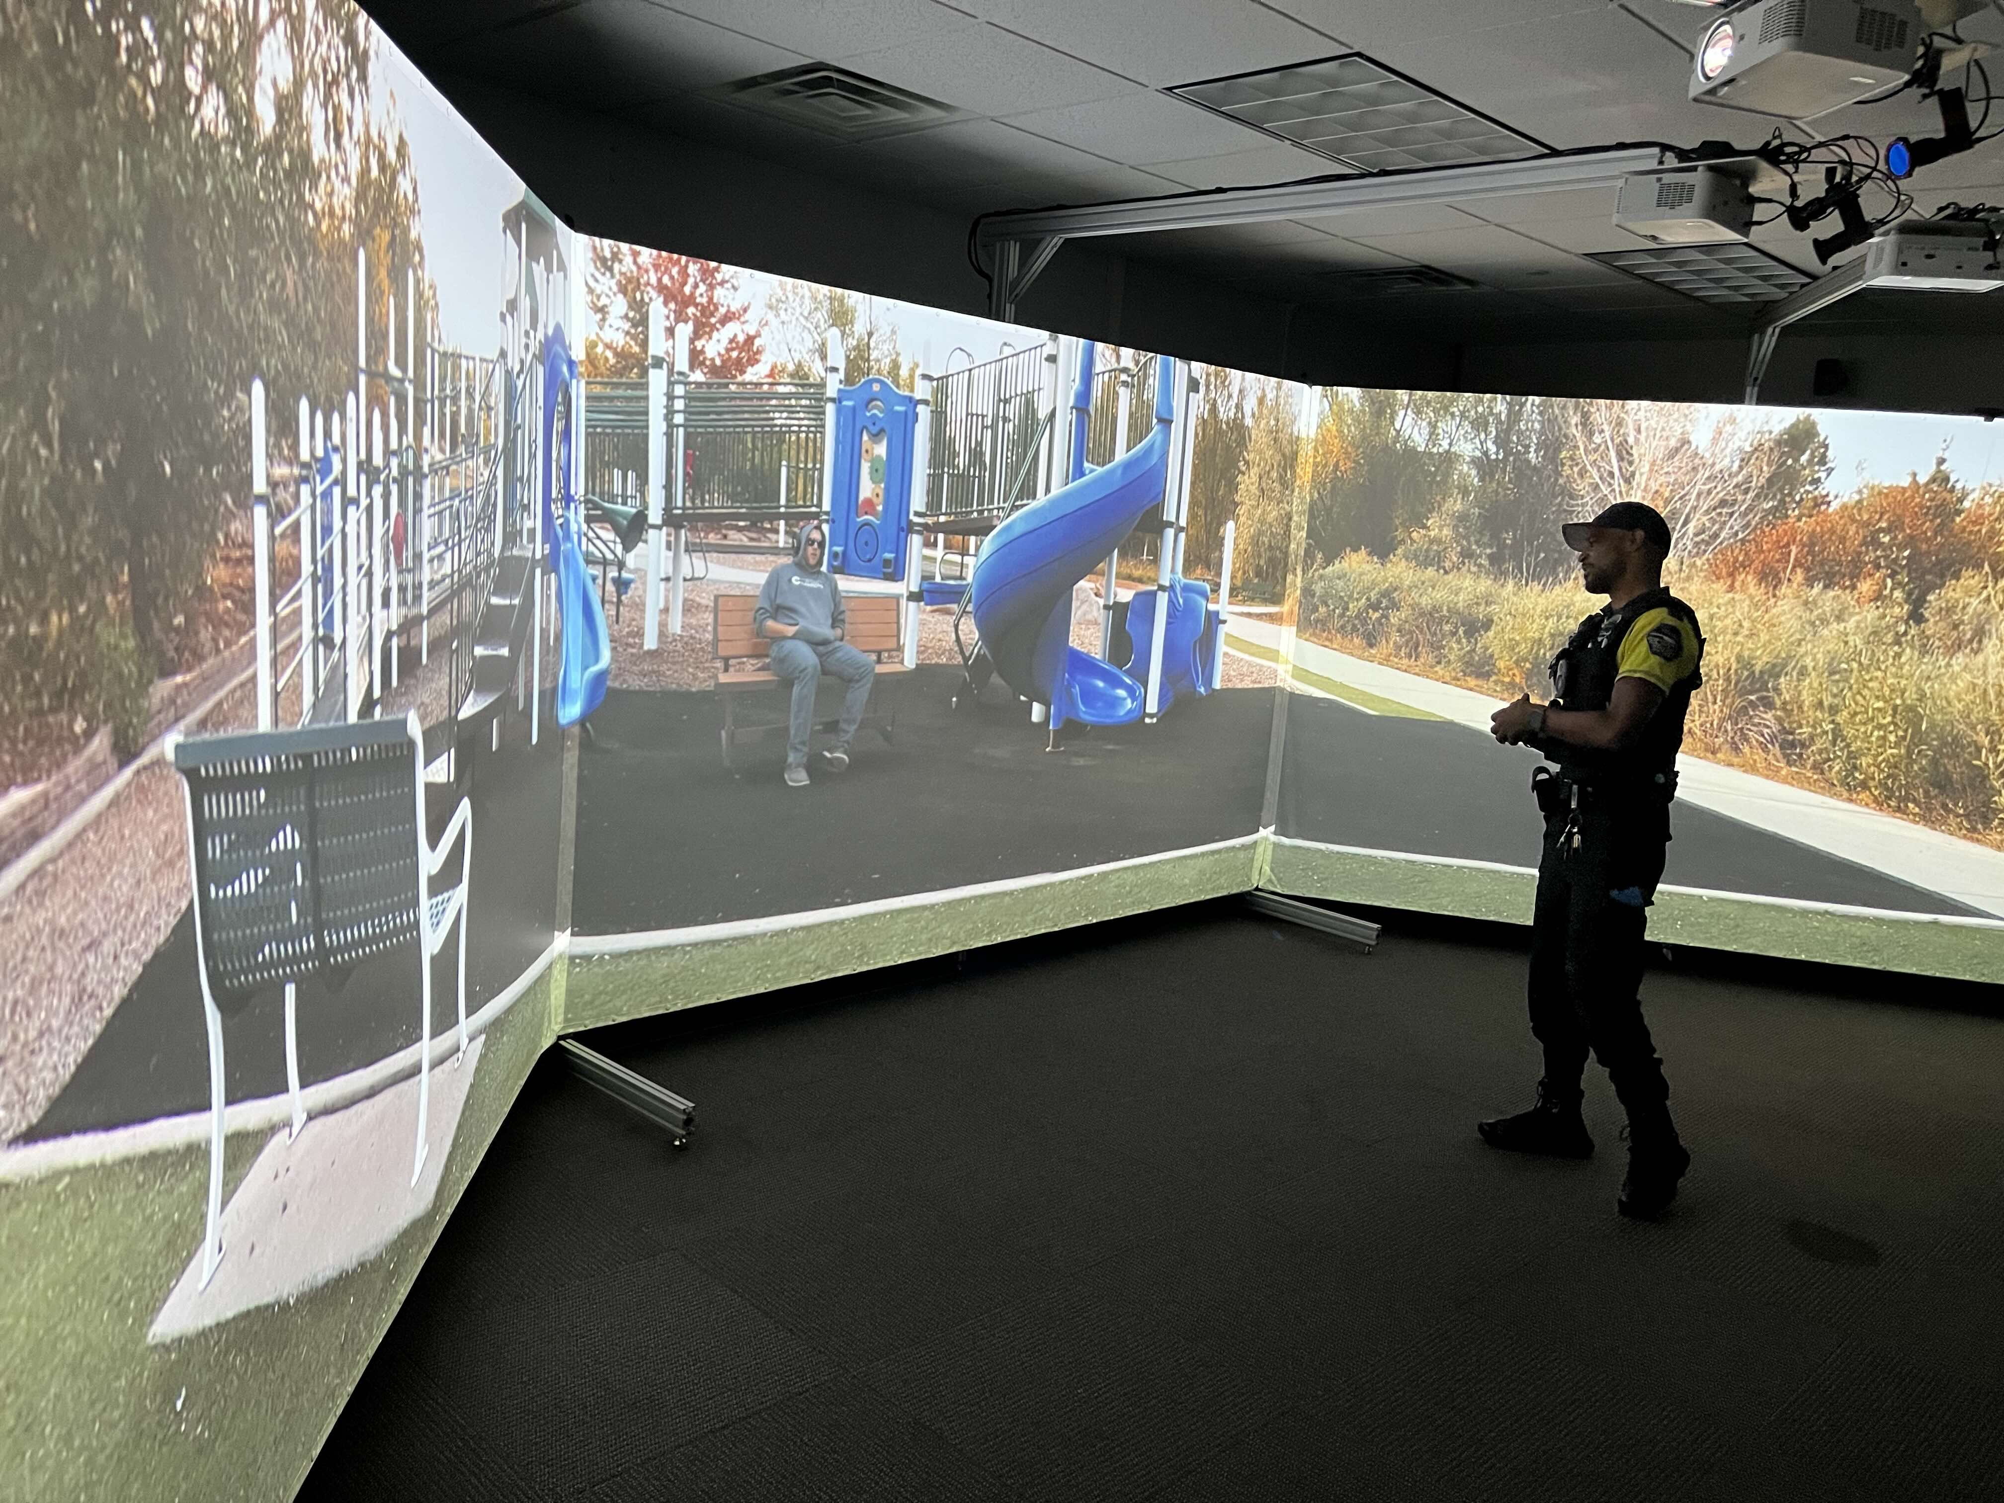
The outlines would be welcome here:
[[[1250,0],[956,0],[982,20],[1162,88],[1341,52]]]

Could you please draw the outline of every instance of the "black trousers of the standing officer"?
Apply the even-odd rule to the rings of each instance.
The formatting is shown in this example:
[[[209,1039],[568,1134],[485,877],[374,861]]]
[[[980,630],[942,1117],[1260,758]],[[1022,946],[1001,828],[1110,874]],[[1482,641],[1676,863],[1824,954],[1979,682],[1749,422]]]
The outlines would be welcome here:
[[[1577,810],[1549,808],[1531,920],[1531,1034],[1545,1050],[1545,1084],[1577,1100],[1591,1050],[1637,1136],[1673,1130],[1637,996],[1667,844],[1667,798],[1595,800],[1583,790]]]

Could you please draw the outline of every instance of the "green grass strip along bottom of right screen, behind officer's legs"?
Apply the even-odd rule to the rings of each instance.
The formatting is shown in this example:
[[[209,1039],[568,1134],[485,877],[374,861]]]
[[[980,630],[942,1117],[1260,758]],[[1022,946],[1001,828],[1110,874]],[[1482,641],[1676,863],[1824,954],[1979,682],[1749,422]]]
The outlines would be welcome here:
[[[1529,924],[1537,876],[1275,842],[1261,886],[1301,898]],[[1649,938],[1830,966],[2004,980],[2004,930],[1764,904],[1731,894],[1659,892],[1649,910]]]

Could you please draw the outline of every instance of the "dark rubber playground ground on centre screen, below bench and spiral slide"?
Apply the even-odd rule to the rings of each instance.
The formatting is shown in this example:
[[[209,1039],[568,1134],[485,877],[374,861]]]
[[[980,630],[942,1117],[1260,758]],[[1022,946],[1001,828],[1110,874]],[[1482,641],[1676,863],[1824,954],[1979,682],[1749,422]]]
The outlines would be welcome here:
[[[723,766],[713,693],[613,689],[577,760],[575,934],[814,912],[1242,840],[1259,830],[1271,689],[1174,703],[1156,725],[1066,727],[990,687],[952,707],[958,667],[880,681],[896,739],[850,770],[780,782],[784,735]],[[780,693],[762,705],[784,713]]]

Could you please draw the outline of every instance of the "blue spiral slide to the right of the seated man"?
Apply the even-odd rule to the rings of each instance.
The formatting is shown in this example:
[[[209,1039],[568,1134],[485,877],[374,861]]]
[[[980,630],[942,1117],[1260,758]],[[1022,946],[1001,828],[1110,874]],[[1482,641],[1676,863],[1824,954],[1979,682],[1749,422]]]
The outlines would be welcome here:
[[[1086,373],[1090,361],[1088,345]],[[1164,357],[1154,431],[1110,465],[1008,517],[974,563],[968,609],[982,647],[1008,687],[1050,705],[1052,729],[1068,719],[1126,725],[1142,717],[1146,687],[1072,647],[1072,587],[1162,499],[1174,391],[1174,361]]]

